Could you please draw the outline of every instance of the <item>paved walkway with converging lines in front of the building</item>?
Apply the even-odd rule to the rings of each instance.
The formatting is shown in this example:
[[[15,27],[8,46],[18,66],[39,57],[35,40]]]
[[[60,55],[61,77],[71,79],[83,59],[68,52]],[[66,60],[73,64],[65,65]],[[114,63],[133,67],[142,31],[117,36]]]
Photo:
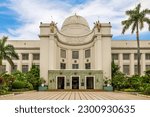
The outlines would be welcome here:
[[[0,100],[150,100],[150,97],[118,92],[51,91],[0,96]]]

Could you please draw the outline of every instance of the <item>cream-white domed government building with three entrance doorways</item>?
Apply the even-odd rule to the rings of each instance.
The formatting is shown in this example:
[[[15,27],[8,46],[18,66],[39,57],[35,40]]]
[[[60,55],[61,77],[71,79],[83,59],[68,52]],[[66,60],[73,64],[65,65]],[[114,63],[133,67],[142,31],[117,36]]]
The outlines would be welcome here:
[[[3,70],[27,72],[32,64],[49,89],[103,89],[103,78],[111,78],[111,61],[120,71],[137,73],[136,41],[112,40],[111,24],[97,21],[89,28],[85,18],[73,15],[59,30],[54,22],[40,24],[40,40],[9,40],[19,60],[12,69],[3,60]],[[141,41],[141,74],[150,68],[150,41]]]

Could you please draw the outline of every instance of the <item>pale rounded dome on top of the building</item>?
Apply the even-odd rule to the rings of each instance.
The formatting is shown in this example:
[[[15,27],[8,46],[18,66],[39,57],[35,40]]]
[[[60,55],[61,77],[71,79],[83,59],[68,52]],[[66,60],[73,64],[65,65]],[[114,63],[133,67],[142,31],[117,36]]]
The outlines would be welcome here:
[[[90,32],[88,22],[79,15],[73,15],[65,19],[61,32],[69,36],[82,36]]]

